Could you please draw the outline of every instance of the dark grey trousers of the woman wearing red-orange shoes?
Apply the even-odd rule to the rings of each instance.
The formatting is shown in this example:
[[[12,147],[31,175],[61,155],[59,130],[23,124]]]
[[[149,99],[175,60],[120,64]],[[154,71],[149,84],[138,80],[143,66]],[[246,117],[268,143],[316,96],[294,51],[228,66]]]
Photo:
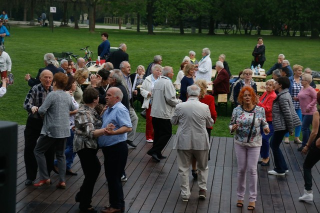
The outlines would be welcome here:
[[[40,180],[47,180],[50,177],[47,173],[44,153],[51,147],[54,147],[55,158],[58,163],[59,182],[65,182],[65,143],[66,138],[51,138],[46,135],[40,135],[34,148],[34,156],[39,168]],[[53,162],[53,159],[52,159]]]

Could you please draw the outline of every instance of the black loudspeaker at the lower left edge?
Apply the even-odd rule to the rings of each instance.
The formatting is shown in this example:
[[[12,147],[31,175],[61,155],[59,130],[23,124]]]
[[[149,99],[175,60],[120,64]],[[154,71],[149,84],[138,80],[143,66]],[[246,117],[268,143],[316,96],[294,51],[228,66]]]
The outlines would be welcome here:
[[[0,121],[0,209],[5,213],[15,212],[17,129],[16,123]]]

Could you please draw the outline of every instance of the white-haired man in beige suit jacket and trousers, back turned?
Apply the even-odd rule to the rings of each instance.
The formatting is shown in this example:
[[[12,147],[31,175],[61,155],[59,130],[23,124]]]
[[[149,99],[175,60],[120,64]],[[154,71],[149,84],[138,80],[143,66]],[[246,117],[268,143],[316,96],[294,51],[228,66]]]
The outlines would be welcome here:
[[[199,198],[206,197],[206,182],[208,179],[208,154],[210,143],[205,127],[213,125],[208,105],[199,101],[200,88],[191,85],[187,88],[187,101],[175,106],[171,124],[179,125],[173,142],[177,150],[178,178],[183,202],[188,202],[189,167],[192,156],[196,158],[198,167]]]

